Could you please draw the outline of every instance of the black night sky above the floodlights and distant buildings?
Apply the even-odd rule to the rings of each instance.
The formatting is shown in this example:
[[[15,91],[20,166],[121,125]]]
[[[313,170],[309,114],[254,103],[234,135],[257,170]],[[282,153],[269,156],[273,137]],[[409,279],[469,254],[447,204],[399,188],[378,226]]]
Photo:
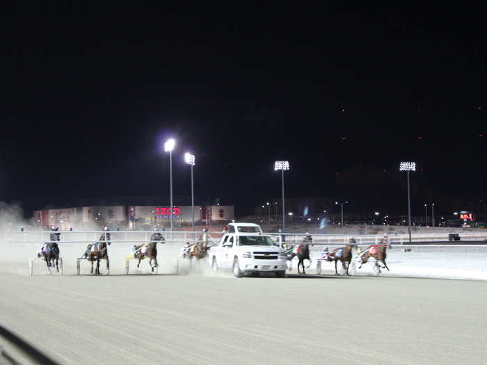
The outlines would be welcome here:
[[[237,214],[279,197],[277,159],[291,165],[288,196],[356,210],[406,211],[400,161],[422,169],[413,213],[486,200],[474,8],[86,3],[2,15],[1,200],[168,195],[169,137],[175,195],[190,194],[191,151],[195,195]]]

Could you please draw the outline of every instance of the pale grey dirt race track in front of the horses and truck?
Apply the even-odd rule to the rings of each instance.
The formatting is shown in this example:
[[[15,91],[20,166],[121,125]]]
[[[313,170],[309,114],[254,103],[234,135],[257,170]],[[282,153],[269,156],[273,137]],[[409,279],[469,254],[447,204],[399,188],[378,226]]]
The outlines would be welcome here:
[[[485,364],[486,289],[397,277],[0,273],[0,325],[61,364]]]

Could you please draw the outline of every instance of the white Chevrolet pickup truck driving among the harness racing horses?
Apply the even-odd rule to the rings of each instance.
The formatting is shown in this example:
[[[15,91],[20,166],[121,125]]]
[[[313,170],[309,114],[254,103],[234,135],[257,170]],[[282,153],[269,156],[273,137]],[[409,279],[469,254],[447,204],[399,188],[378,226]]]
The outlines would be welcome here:
[[[209,249],[213,270],[232,269],[236,277],[246,273],[276,273],[286,276],[287,257],[272,236],[262,234],[259,225],[230,223],[217,246]]]

